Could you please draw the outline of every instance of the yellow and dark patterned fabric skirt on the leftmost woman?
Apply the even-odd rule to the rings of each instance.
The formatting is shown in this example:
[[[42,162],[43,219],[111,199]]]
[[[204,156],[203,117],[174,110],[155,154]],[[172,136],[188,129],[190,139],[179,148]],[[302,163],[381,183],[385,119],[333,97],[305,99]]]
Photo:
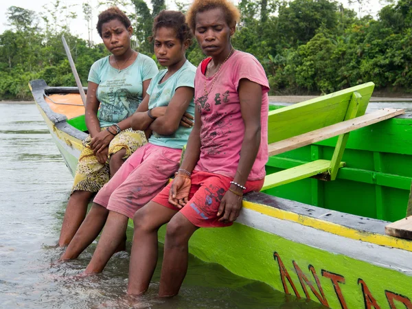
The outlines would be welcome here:
[[[105,129],[102,128],[102,130]],[[143,131],[135,131],[131,128],[123,130],[108,145],[108,159],[104,164],[99,163],[98,158],[90,148],[90,142],[91,136],[89,135],[83,141],[83,150],[76,168],[71,194],[75,191],[98,192],[110,179],[108,161],[111,155],[125,148],[126,155],[124,155],[123,159],[127,159],[137,148],[144,146],[147,140]]]

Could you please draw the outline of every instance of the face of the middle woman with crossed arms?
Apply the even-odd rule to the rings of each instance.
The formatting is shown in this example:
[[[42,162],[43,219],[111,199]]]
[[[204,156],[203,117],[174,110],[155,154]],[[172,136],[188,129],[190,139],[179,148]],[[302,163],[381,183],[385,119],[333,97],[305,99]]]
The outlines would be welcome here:
[[[189,46],[187,43],[182,44],[176,36],[176,30],[168,27],[158,28],[154,41],[157,61],[163,67],[170,67],[181,61]]]

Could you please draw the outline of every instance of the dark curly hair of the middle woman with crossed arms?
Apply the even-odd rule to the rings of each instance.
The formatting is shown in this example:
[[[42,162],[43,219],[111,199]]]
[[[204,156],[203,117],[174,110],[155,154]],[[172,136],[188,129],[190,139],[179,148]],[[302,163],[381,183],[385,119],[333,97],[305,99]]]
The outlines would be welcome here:
[[[186,40],[190,40],[190,43],[192,43],[193,34],[182,12],[162,10],[153,21],[152,36],[149,36],[150,42],[154,40],[156,31],[161,27],[174,29],[176,31],[176,37],[179,38],[182,43]]]

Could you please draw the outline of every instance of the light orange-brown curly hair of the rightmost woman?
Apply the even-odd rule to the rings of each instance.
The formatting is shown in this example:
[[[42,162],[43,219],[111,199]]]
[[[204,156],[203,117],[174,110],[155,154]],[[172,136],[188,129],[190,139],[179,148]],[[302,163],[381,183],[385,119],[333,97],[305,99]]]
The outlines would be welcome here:
[[[194,0],[186,13],[186,21],[189,27],[196,29],[196,14],[220,8],[226,17],[226,23],[229,26],[234,26],[240,20],[240,12],[236,6],[229,0]]]

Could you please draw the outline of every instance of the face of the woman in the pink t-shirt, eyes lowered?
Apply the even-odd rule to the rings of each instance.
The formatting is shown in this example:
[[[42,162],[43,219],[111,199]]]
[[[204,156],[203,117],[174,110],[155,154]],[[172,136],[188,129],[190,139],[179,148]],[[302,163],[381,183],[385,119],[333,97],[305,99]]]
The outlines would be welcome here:
[[[229,27],[225,13],[214,8],[196,14],[194,35],[201,49],[207,56],[218,56],[227,49],[235,27]]]

